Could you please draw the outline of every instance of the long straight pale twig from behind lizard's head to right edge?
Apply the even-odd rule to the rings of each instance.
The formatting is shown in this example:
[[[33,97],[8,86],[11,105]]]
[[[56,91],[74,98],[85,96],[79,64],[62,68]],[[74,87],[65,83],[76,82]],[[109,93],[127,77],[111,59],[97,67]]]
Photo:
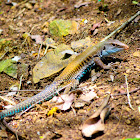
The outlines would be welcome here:
[[[138,11],[134,16],[132,16],[128,21],[123,23],[120,27],[118,27],[116,30],[114,30],[112,33],[110,33],[108,36],[106,36],[101,42],[106,41],[111,36],[113,36],[115,33],[117,33],[119,30],[123,29],[127,24],[129,24],[132,20],[134,20],[138,15],[140,14],[140,11]]]

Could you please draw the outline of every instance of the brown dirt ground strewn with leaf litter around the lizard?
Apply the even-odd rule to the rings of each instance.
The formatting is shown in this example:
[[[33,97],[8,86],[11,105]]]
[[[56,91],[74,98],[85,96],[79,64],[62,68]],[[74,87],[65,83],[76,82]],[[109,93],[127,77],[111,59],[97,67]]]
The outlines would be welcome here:
[[[32,69],[39,61],[36,56],[30,55],[32,51],[36,53],[39,50],[39,45],[34,45],[34,41],[30,44],[24,45],[22,34],[31,32],[32,35],[48,36],[51,35],[42,31],[42,25],[46,21],[53,19],[70,19],[75,21],[82,21],[87,19],[87,24],[81,24],[79,31],[75,35],[68,35],[63,40],[55,41],[58,43],[70,44],[71,41],[84,39],[90,36],[93,42],[98,42],[114,31],[122,23],[127,21],[139,9],[138,5],[132,4],[131,0],[105,0],[108,8],[101,9],[102,3],[97,3],[97,0],[85,1],[89,2],[88,5],[83,5],[79,8],[74,8],[78,0],[36,0],[32,7],[26,5],[28,1],[14,0],[19,5],[12,8],[12,5],[6,4],[6,0],[0,0],[0,29],[3,33],[0,38],[9,38],[12,40],[13,46],[18,46],[9,51],[3,59],[12,58],[14,56],[23,56],[21,63],[29,65],[27,75],[23,77],[22,89],[43,89],[45,86],[53,81],[56,74],[52,77],[40,80],[37,84],[27,84],[27,81],[32,81]],[[81,2],[82,3],[82,2]],[[0,12],[1,12],[0,11]],[[115,21],[110,26],[107,25],[105,18],[108,21]],[[98,33],[93,35],[90,29],[94,23],[101,22],[102,24],[98,29]],[[38,139],[60,139],[60,140],[83,140],[85,139],[79,129],[80,125],[88,116],[92,115],[99,107],[106,93],[112,95],[126,93],[126,81],[124,74],[127,74],[129,91],[135,90],[140,86],[140,56],[135,56],[134,53],[139,51],[139,23],[131,22],[125,29],[121,31],[116,37],[118,40],[126,43],[130,48],[126,51],[119,52],[110,56],[115,63],[110,70],[98,69],[101,75],[96,81],[91,82],[89,77],[85,83],[95,87],[98,99],[94,99],[90,104],[83,108],[75,109],[76,115],[73,110],[59,111],[53,116],[47,116],[50,110],[48,102],[41,105],[36,105],[30,111],[26,112],[23,116],[14,116],[9,125],[25,134],[25,139],[38,140]],[[116,59],[117,58],[117,59]],[[110,75],[114,76],[111,81]],[[18,78],[14,79],[5,73],[0,74],[0,91],[8,90],[9,87],[16,82],[19,82],[21,74],[18,73]],[[31,97],[37,92],[21,92],[18,94],[17,103],[20,102],[21,97]],[[1,93],[6,95],[6,93]],[[21,97],[19,97],[19,95]],[[23,98],[24,99],[24,98]],[[105,121],[104,134],[92,137],[96,140],[119,140],[126,138],[135,138],[140,135],[140,90],[131,93],[131,104],[134,108],[129,107],[126,95],[112,96],[110,99],[110,106],[112,107],[111,113]],[[8,132],[8,137],[5,139],[14,140],[15,135]],[[43,136],[43,138],[41,137]],[[4,138],[3,138],[4,139]]]

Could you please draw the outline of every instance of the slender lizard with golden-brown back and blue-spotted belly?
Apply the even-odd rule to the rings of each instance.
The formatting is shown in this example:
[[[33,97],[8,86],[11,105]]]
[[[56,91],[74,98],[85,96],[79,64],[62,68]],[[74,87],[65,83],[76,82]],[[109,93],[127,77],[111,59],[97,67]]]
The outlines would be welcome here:
[[[102,41],[96,45],[88,47],[85,51],[76,56],[76,58],[67,65],[62,73],[54,79],[52,84],[47,86],[43,91],[11,107],[10,109],[0,112],[0,120],[3,120],[4,117],[12,116],[31,108],[36,103],[50,100],[53,96],[58,95],[58,91],[63,88],[65,88],[64,93],[68,93],[71,88],[75,88],[79,84],[80,79],[95,63],[98,63],[103,68],[109,68],[107,65],[103,64],[99,58],[128,48],[129,47],[126,44],[123,44],[118,40]]]

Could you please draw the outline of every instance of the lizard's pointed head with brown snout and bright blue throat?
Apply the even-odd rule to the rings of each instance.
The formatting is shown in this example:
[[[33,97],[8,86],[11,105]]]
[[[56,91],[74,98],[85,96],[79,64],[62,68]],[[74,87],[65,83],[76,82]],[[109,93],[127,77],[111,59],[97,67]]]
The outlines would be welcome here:
[[[128,49],[128,45],[120,42],[119,40],[107,40],[104,43],[102,56],[108,56],[109,54],[116,53],[122,50]]]

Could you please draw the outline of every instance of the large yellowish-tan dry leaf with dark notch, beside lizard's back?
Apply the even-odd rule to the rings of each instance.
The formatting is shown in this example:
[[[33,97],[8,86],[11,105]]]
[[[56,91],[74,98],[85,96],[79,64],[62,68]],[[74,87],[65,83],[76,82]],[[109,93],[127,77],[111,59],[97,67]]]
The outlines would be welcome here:
[[[48,52],[45,57],[39,61],[33,69],[33,81],[39,82],[40,79],[49,77],[66,67],[76,55],[64,59],[64,50],[71,50],[68,45],[61,44],[54,51]]]

